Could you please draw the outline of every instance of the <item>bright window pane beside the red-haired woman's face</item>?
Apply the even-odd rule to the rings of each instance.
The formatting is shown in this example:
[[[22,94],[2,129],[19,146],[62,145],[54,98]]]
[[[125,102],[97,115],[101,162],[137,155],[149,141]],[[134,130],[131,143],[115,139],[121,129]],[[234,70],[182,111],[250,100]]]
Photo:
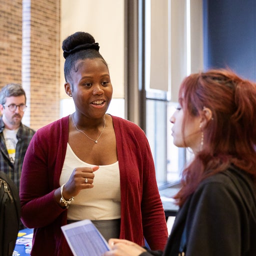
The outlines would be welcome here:
[[[159,185],[179,179],[183,165],[183,150],[172,143],[171,114],[176,104],[164,100],[146,99],[146,136],[152,151],[156,179]]]

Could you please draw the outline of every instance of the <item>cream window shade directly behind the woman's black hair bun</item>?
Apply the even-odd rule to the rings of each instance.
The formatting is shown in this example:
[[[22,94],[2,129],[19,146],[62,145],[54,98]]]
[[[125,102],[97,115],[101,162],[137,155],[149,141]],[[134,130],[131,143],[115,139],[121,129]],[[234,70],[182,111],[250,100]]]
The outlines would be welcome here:
[[[76,31],[89,32],[108,63],[113,98],[124,98],[124,0],[61,0],[60,56],[64,38]],[[64,58],[60,58],[60,98],[64,91]]]

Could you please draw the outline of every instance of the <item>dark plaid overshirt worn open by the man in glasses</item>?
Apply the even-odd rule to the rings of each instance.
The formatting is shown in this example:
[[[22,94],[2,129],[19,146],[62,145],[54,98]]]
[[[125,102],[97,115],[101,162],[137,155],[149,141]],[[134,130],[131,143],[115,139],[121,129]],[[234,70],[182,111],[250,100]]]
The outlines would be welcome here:
[[[0,117],[0,170],[5,172],[14,182],[19,190],[19,179],[21,174],[21,168],[27,146],[35,133],[35,131],[24,124],[20,124],[17,131],[17,144],[15,161],[12,163],[7,152],[5,140],[3,136],[4,123],[2,117]]]

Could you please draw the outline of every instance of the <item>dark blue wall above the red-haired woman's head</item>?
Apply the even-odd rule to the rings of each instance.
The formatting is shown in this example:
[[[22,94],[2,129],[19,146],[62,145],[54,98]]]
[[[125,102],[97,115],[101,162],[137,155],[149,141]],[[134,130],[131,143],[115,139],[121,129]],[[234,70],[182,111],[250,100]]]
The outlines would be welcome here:
[[[256,81],[256,0],[203,0],[204,68]]]

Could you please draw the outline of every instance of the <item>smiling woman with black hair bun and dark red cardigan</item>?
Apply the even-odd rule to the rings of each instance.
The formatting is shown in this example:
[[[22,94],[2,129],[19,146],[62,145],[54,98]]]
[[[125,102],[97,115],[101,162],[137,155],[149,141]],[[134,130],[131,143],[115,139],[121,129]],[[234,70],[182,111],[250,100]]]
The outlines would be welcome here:
[[[163,249],[167,227],[144,132],[106,114],[112,84],[92,35],[71,34],[62,49],[75,112],[38,129],[25,155],[21,219],[34,228],[31,255],[72,255],[60,227],[82,219],[105,239]]]

